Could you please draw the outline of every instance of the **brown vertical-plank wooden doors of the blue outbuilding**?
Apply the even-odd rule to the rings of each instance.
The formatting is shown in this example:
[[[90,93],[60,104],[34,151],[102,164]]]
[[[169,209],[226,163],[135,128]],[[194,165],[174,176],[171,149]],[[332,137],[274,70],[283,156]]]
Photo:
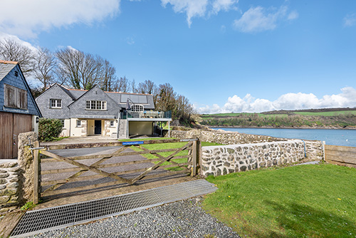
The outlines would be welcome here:
[[[0,113],[0,159],[17,157],[20,133],[32,130],[32,115]]]

